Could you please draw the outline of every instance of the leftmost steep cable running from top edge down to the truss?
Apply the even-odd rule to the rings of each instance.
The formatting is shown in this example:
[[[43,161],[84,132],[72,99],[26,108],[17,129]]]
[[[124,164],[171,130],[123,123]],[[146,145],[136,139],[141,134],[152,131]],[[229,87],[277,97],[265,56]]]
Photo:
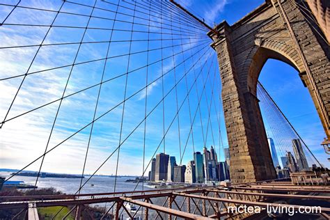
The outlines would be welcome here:
[[[97,0],[95,0],[95,2],[94,2],[94,6],[96,5],[96,2],[97,2]],[[91,10],[91,15],[93,15],[93,11],[94,11],[94,8]],[[88,24],[89,24],[90,21],[91,21],[91,17],[88,18],[88,22],[87,22],[87,24],[86,24],[86,27],[88,27]],[[83,35],[81,36],[81,42],[84,40],[84,37],[85,37],[86,31],[87,31],[87,28],[85,29]],[[61,104],[62,104],[62,102],[63,102],[63,97],[64,97],[64,95],[65,95],[65,91],[66,91],[66,89],[68,88],[68,84],[69,84],[69,81],[70,81],[70,77],[71,77],[71,75],[72,75],[72,70],[73,70],[73,68],[74,68],[74,63],[75,63],[76,60],[77,60],[77,57],[78,57],[78,54],[79,54],[80,48],[81,48],[81,45],[79,45],[79,47],[78,47],[78,49],[77,49],[77,52],[76,52],[76,54],[75,54],[75,56],[74,56],[73,65],[71,66],[70,73],[69,73],[69,75],[68,75],[68,79],[66,80],[65,87],[64,87],[64,90],[63,90],[63,94],[62,94],[62,97],[61,97],[60,103],[58,104],[58,108],[57,108],[57,111],[56,111],[56,115],[55,115],[55,118],[54,118],[54,121],[53,121],[52,129],[51,129],[51,131],[50,131],[50,133],[49,133],[49,137],[48,137],[48,140],[47,140],[47,145],[46,145],[46,147],[45,147],[45,153],[47,152],[47,148],[48,148],[48,146],[49,146],[50,139],[52,138],[52,134],[53,134],[53,131],[54,131],[54,127],[55,127],[56,120],[57,120],[57,117],[58,117],[58,113],[59,113],[59,111],[60,111],[60,109],[61,109]],[[45,154],[44,154],[44,156],[42,157],[42,160],[41,160],[40,168],[39,168],[38,175],[37,175],[37,178],[36,178],[35,187],[37,186],[38,179],[39,179],[39,176],[40,176],[40,172],[41,172],[41,169],[42,169],[42,164],[43,164],[44,160],[45,160]],[[36,189],[36,188],[35,188],[35,189]]]

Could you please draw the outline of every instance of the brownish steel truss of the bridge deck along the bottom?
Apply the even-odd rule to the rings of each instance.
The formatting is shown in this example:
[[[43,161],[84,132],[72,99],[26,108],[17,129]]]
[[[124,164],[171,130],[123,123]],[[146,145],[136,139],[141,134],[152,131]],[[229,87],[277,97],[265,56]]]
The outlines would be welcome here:
[[[319,193],[324,196],[315,196]],[[65,217],[74,214],[76,219],[81,217],[95,219],[88,210],[88,205],[109,203],[111,204],[109,208],[98,219],[120,219],[124,214],[131,219],[137,216],[143,219],[171,219],[171,217],[174,219],[243,219],[248,216],[251,218],[253,214],[258,215],[258,218],[267,217],[266,212],[272,207],[281,207],[291,209],[295,214],[299,210],[306,210],[303,217],[308,218],[308,214],[316,213],[310,211],[313,207],[308,204],[315,201],[318,203],[329,201],[329,196],[326,196],[329,193],[329,187],[324,186],[301,187],[286,181],[268,181],[230,188],[186,187],[80,195],[5,196],[1,197],[0,208],[20,209],[21,212],[18,212],[15,217],[18,218],[21,215],[33,216],[36,207],[65,205],[72,207]],[[299,205],[292,205],[292,202]],[[130,212],[125,203],[136,205],[136,212]],[[255,212],[246,211],[246,207],[253,207]],[[234,211],[233,208],[241,209],[242,212]],[[247,212],[251,213],[246,214]],[[320,206],[320,211],[317,213],[329,219],[330,208]]]

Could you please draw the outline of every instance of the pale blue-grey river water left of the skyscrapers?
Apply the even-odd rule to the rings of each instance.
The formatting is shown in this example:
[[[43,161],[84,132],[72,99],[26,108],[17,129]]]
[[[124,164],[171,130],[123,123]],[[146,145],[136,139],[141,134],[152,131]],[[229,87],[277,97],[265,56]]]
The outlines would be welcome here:
[[[0,172],[0,176],[10,177],[10,173],[8,172]],[[85,175],[83,179],[83,184],[88,180],[90,176]],[[109,193],[113,192],[114,184],[116,178],[109,178],[107,176],[93,176],[91,180],[85,184],[85,186],[81,189],[81,194],[93,194],[93,193]],[[133,179],[133,178],[117,178],[116,183],[116,191],[134,191],[136,187],[136,183],[134,182],[125,182],[125,180]],[[15,181],[24,181],[24,184],[34,185],[36,183],[36,177],[29,176],[14,176],[10,180]],[[93,186],[92,186],[93,184]],[[79,189],[80,178],[70,179],[70,178],[39,178],[38,179],[38,189],[40,188],[49,188],[54,187],[56,190],[61,191],[65,194],[75,194]],[[149,187],[146,183],[144,183],[144,190],[151,190],[153,188]],[[143,190],[142,182],[138,184],[135,189],[136,191]]]

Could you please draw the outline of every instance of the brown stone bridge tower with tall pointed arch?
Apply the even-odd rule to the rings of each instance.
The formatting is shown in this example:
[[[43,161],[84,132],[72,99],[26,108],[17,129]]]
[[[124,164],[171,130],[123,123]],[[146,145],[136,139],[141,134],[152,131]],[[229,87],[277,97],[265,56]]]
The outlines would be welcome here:
[[[267,0],[233,26],[222,22],[209,33],[219,59],[233,183],[276,178],[256,97],[268,58],[299,72],[329,138],[330,49],[305,8],[300,1]]]

